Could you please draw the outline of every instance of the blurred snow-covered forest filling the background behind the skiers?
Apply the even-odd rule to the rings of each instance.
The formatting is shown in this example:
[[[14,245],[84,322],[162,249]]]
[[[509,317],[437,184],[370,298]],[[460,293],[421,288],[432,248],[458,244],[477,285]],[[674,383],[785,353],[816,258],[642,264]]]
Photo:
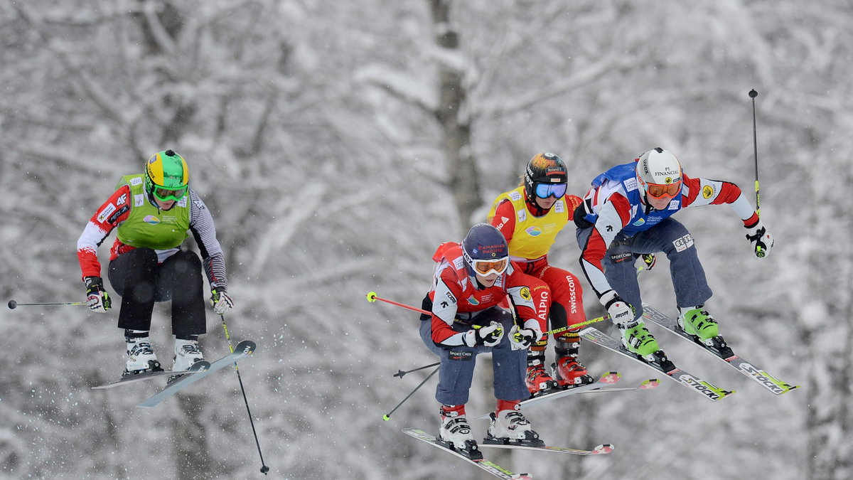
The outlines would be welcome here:
[[[240,372],[269,477],[480,478],[400,431],[437,433],[434,378],[382,421],[430,370],[392,374],[436,358],[416,313],[365,294],[420,305],[438,243],[485,220],[537,152],[567,161],[577,195],[661,146],[688,175],[751,196],[755,88],[775,249],[752,258],[726,207],[676,218],[734,351],[801,388],[771,395],[652,326],[677,365],[738,393],[712,403],[662,379],[571,396],[527,418],[548,444],[612,454],[489,456],[537,478],[850,478],[850,25],[849,0],[6,0],[0,293],[83,301],[86,221],[121,175],[176,149],[216,220],[231,337],[258,342]],[[577,256],[570,226],[550,260],[579,273]],[[644,300],[675,314],[661,263],[641,278]],[[155,308],[152,331],[165,366],[168,315]],[[263,477],[232,369],[154,409],[136,404],[157,381],[90,389],[124,368],[117,316],[3,307],[0,477]],[[212,311],[202,345],[209,359],[228,351]],[[588,343],[582,360],[625,383],[656,377]],[[488,366],[469,413],[493,407]]]

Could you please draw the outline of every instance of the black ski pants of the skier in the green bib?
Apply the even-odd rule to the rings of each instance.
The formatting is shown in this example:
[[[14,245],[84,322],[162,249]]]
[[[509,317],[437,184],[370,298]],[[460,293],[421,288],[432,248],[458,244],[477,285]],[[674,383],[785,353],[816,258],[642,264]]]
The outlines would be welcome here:
[[[171,300],[171,332],[177,337],[206,332],[201,260],[181,250],[157,263],[153,249],[132,249],[109,263],[109,282],[121,296],[119,328],[149,331],[154,302]]]

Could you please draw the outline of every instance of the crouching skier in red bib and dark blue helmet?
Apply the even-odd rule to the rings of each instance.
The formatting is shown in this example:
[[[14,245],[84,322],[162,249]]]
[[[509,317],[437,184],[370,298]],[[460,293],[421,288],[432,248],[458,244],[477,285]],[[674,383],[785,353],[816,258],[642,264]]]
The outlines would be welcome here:
[[[527,277],[509,263],[507,241],[487,224],[474,225],[462,243],[442,243],[432,290],[423,301],[421,339],[441,359],[435,398],[441,403],[438,441],[470,458],[482,458],[465,404],[478,354],[490,353],[497,407],[486,441],[542,446],[519,409],[527,348],[542,337]],[[509,297],[514,314],[498,305]],[[514,319],[517,318],[517,319]]]

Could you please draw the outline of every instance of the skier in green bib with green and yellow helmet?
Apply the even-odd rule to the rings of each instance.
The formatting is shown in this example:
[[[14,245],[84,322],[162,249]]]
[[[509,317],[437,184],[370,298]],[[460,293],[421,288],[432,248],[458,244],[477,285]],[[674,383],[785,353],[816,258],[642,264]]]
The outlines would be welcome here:
[[[145,172],[125,175],[89,222],[77,242],[77,257],[86,285],[87,304],[106,313],[112,298],[104,288],[97,248],[111,231],[107,276],[121,296],[119,328],[125,331],[124,375],[162,371],[148,339],[154,303],[171,300],[171,331],[175,336],[172,371],[189,370],[203,360],[199,336],[206,332],[204,281],[211,286],[213,311],[233,307],[225,277],[222,247],[205,203],[189,187],[189,167],[174,150],[160,151]],[[192,232],[201,259],[181,249]]]

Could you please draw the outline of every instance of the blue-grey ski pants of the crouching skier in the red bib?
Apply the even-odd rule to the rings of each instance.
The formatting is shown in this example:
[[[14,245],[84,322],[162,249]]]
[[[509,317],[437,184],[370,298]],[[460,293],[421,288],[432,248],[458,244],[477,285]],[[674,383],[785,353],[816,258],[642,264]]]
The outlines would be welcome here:
[[[530,390],[525,384],[527,372],[527,349],[513,350],[509,342],[509,329],[513,326],[511,313],[499,307],[491,307],[477,315],[479,325],[487,325],[491,320],[503,325],[504,335],[496,347],[438,347],[432,342],[430,320],[421,320],[421,340],[427,348],[441,359],[438,371],[438,387],[435,399],[444,405],[464,405],[468,401],[468,390],[474,375],[474,365],[478,354],[491,353],[494,371],[495,396],[500,400],[525,400]],[[458,331],[467,331],[469,327],[459,327]],[[455,327],[456,329],[456,327]]]

